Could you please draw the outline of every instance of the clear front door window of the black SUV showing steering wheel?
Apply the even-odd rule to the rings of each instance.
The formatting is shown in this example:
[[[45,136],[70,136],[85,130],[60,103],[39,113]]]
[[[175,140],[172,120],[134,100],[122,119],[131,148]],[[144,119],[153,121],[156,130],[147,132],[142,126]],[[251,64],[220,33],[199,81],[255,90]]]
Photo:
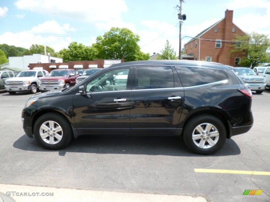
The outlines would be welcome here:
[[[129,68],[105,72],[86,84],[86,92],[126,90],[128,75]]]

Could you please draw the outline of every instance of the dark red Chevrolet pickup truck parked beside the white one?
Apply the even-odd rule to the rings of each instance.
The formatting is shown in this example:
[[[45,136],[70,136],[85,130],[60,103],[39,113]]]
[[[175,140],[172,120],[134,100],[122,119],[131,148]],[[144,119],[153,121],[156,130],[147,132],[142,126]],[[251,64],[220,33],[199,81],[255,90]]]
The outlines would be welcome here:
[[[47,77],[40,79],[39,89],[46,92],[69,88],[76,84],[77,77],[74,69],[54,69]]]

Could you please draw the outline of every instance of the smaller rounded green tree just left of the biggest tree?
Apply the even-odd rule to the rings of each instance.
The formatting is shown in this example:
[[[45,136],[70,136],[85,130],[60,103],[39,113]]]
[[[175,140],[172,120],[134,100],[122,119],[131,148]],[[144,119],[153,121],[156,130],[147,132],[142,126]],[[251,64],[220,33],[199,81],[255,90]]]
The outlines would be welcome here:
[[[71,42],[68,48],[64,48],[58,52],[59,57],[63,58],[64,62],[67,61],[82,61],[82,60],[95,60],[97,59],[97,50],[94,47]]]

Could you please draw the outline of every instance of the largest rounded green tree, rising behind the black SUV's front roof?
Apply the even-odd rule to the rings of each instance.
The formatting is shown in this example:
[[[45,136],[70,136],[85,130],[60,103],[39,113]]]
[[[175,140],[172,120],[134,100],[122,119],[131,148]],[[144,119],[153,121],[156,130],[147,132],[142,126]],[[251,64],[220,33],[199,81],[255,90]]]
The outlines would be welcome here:
[[[112,27],[103,36],[98,36],[92,47],[98,51],[99,59],[149,60],[150,55],[141,52],[139,41],[139,35],[131,30]]]

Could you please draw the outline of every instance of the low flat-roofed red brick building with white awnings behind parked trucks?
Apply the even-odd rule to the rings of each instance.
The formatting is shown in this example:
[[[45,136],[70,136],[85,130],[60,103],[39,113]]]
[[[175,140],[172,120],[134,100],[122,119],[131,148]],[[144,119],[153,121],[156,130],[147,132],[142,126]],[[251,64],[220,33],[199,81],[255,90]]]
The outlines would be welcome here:
[[[53,69],[89,69],[89,68],[106,68],[112,64],[124,62],[122,60],[91,60],[91,61],[68,61],[61,63],[32,63],[29,69],[44,69],[48,72]]]

